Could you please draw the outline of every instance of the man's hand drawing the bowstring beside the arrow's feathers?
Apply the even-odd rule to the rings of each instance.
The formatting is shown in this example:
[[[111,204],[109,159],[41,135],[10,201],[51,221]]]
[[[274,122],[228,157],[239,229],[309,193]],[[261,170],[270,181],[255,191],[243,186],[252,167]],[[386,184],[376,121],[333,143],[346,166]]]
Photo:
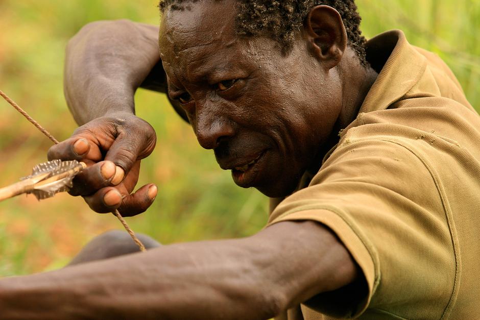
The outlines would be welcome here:
[[[100,213],[118,208],[119,194],[120,213],[131,216],[147,210],[155,200],[155,185],[131,193],[138,181],[140,159],[152,153],[155,142],[155,131],[146,121],[118,113],[81,126],[69,139],[51,147],[48,158],[85,162],[88,167],[77,175],[69,193],[83,196],[90,208]],[[124,168],[128,169],[126,175]]]

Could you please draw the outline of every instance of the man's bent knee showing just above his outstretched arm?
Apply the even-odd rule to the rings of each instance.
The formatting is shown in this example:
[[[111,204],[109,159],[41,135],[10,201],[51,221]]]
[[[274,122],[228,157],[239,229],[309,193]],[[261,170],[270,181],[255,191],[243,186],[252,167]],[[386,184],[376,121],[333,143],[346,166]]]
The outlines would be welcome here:
[[[161,245],[145,234],[137,234],[137,237],[145,245],[147,250]],[[67,266],[113,258],[135,252],[140,252],[140,249],[126,231],[107,231],[88,242]]]

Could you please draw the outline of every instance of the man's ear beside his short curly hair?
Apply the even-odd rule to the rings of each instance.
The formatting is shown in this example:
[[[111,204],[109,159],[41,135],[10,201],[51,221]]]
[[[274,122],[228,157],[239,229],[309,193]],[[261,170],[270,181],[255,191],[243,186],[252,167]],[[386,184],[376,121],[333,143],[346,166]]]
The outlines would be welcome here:
[[[316,6],[305,18],[303,30],[310,48],[327,69],[337,66],[347,47],[347,31],[340,13],[329,6]]]

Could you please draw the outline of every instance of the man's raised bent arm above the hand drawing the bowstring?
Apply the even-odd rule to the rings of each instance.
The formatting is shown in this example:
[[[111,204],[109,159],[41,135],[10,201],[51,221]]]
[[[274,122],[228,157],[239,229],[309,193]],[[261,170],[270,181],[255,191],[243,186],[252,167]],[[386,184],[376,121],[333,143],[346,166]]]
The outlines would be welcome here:
[[[78,124],[133,113],[135,90],[147,78],[164,82],[163,72],[150,75],[159,61],[157,27],[128,20],[83,27],[67,45],[64,72],[65,98]]]

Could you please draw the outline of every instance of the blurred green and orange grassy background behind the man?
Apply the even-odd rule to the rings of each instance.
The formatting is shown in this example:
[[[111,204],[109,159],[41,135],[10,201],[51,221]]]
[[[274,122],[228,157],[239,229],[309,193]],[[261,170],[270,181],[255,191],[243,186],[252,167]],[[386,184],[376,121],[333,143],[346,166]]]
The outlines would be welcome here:
[[[158,24],[150,0],[0,0],[0,89],[57,139],[76,128],[63,99],[64,47],[85,23],[129,18]],[[480,0],[357,0],[369,38],[402,29],[409,41],[439,54],[480,107]],[[88,94],[87,92],[85,94]],[[162,243],[255,233],[267,220],[267,199],[236,187],[211,152],[161,94],[139,90],[137,114],[158,135],[156,150],[142,162],[140,184],[156,183],[159,195],[141,216],[129,218],[136,232]],[[30,174],[46,159],[51,143],[0,101],[0,186]],[[0,277],[63,266],[93,236],[121,229],[110,214],[96,214],[80,198],[59,194],[37,202],[18,196],[0,203]]]

